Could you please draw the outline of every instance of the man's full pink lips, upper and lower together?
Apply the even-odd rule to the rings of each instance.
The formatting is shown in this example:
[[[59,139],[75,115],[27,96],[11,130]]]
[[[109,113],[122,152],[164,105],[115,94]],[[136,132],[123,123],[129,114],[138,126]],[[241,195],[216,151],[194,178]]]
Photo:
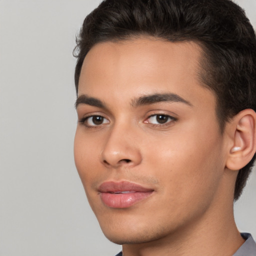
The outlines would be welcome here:
[[[98,191],[101,201],[111,208],[128,208],[134,203],[146,199],[154,191],[129,181],[106,181],[100,184]]]

